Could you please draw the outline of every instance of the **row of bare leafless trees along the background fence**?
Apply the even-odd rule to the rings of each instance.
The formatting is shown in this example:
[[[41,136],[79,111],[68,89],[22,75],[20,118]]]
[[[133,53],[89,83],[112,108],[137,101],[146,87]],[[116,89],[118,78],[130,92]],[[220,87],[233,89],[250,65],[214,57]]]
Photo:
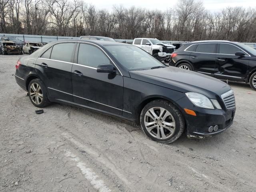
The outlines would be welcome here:
[[[256,42],[256,9],[212,13],[197,0],[179,0],[162,10],[122,5],[98,10],[82,0],[0,0],[0,33]]]

